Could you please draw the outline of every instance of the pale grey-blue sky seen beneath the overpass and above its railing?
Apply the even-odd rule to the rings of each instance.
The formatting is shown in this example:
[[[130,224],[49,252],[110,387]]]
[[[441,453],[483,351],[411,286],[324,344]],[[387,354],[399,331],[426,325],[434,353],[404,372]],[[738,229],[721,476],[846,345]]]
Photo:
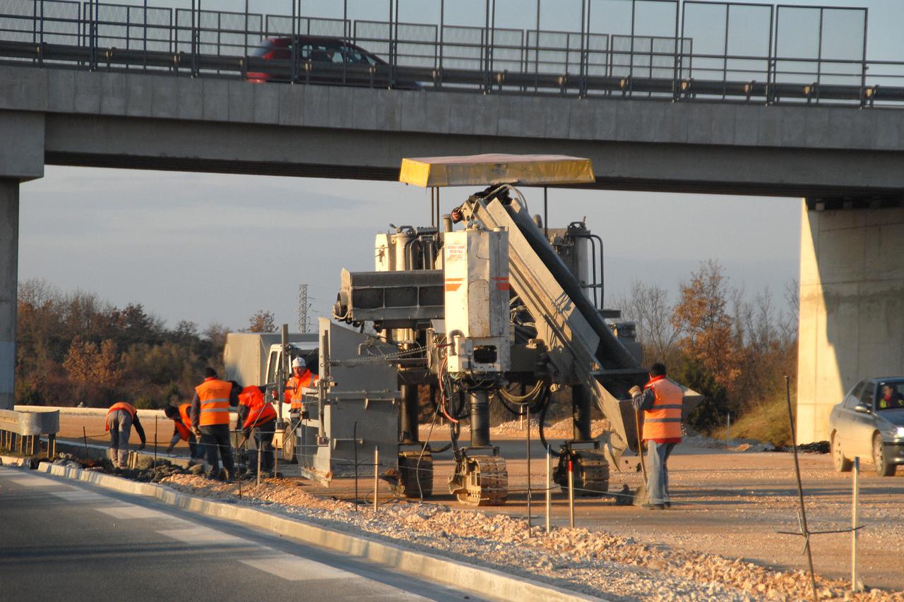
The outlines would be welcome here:
[[[216,7],[231,4],[243,5]],[[304,4],[306,13],[322,16],[334,16],[330,11],[342,6]],[[381,3],[349,4],[365,13]],[[406,20],[406,10],[414,14],[419,6],[437,4],[400,0],[400,15]],[[447,4],[461,11],[449,16],[461,24],[483,14],[483,0]],[[497,0],[497,11],[512,14],[512,26],[532,26],[518,23],[524,18],[518,11],[504,11],[515,4]],[[563,0],[562,10],[544,12],[543,26],[567,27],[570,4],[579,6]],[[902,22],[904,3],[859,4],[870,7],[870,47],[876,50],[869,56],[904,54],[894,25]],[[250,2],[252,10],[281,5],[290,6]],[[466,5],[473,10],[466,12]],[[429,11],[421,13],[419,21],[428,21]],[[506,24],[497,18],[497,25]],[[467,192],[444,192],[442,211]],[[541,212],[541,192],[523,192],[532,212]],[[800,199],[553,190],[549,215],[551,226],[586,217],[589,229],[602,236],[607,299],[640,280],[665,287],[674,300],[679,284],[706,259],[718,260],[730,285],[749,296],[768,287],[781,300],[797,277]],[[328,316],[341,269],[373,268],[377,232],[390,223],[428,225],[429,219],[429,193],[401,183],[48,165],[42,179],[21,186],[19,279],[92,291],[117,306],[140,303],[170,327],[190,320],[201,328],[218,323],[237,330],[265,309],[294,330],[299,284],[309,286],[311,314]]]

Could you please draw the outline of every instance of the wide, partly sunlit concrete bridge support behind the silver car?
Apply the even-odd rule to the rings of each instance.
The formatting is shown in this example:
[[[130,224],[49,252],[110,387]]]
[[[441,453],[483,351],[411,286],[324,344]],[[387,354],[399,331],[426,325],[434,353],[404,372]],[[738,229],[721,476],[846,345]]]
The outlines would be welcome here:
[[[829,439],[829,413],[858,381],[904,374],[904,207],[872,204],[803,203],[798,443]]]

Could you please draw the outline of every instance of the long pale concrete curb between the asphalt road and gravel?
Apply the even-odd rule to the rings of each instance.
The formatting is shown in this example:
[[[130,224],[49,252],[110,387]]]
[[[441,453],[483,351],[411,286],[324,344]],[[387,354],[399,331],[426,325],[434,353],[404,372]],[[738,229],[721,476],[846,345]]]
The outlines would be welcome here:
[[[603,600],[603,598],[556,588],[527,578],[507,575],[498,570],[476,567],[418,550],[406,550],[392,543],[334,531],[266,510],[243,507],[235,503],[213,502],[193,495],[180,494],[159,484],[138,483],[119,476],[69,466],[52,465],[47,462],[42,462],[38,466],[38,472],[87,481],[123,494],[154,497],[163,503],[183,510],[266,529],[298,541],[340,552],[345,556],[370,560],[392,569],[398,569],[430,582],[441,583],[453,588],[460,588],[464,584],[467,588],[483,596],[516,600],[517,602]]]

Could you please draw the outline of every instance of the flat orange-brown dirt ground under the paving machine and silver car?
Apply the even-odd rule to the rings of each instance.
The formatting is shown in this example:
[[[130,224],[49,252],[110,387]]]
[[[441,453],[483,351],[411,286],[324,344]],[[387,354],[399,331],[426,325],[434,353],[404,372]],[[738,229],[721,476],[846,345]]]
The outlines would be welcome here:
[[[82,424],[87,425],[90,435],[92,429],[98,429],[96,422],[99,423],[99,432],[103,432],[103,420],[95,417],[66,416],[62,417],[61,422],[64,431],[61,434],[64,436],[76,434],[76,431],[80,435]],[[153,421],[151,424],[153,425]],[[148,429],[146,425],[146,430],[150,430],[149,439],[153,439],[153,426]],[[567,430],[568,428],[552,429],[549,436],[565,437]],[[158,440],[162,446],[165,446],[171,432],[168,421],[161,420]],[[423,435],[426,436],[426,432]],[[441,442],[444,437],[447,437],[446,429],[435,432],[433,438]],[[463,433],[463,437],[466,437],[466,433]],[[526,533],[528,455],[523,437],[525,432],[518,428],[517,421],[504,425],[503,428],[494,428],[494,441],[507,460],[511,494],[504,506],[481,510],[488,520],[502,520],[511,528],[523,529]],[[533,524],[542,525],[545,519],[546,464],[543,448],[536,437],[534,428],[531,446],[531,514]],[[551,443],[555,449],[556,440],[551,440]],[[594,537],[614,537],[618,541],[637,544],[641,547],[636,550],[640,550],[638,553],[644,558],[649,556],[648,550],[672,550],[669,553],[702,553],[727,559],[729,562],[739,562],[742,565],[750,562],[780,571],[805,569],[803,538],[778,532],[799,531],[793,455],[752,453],[711,447],[712,445],[712,442],[692,438],[677,447],[669,462],[674,503],[671,509],[647,511],[635,506],[617,505],[609,498],[579,498],[575,504],[576,527],[581,532],[593,533]],[[744,449],[744,446],[739,449]],[[829,455],[802,454],[800,463],[810,531],[848,528],[852,521],[852,475],[835,473]],[[634,490],[640,484],[642,476],[634,470],[636,457],[626,459],[624,465],[626,472],[613,470],[610,492],[621,490],[625,484]],[[553,463],[553,469],[554,467]],[[447,477],[454,470],[448,452],[436,457],[434,469],[434,491],[437,495],[428,502],[453,510],[470,511],[447,494]],[[298,474],[295,465],[281,465],[280,471],[287,477]],[[292,478],[292,482],[300,485],[300,490],[306,494],[327,499],[353,497],[352,479],[336,479],[329,487],[300,478]],[[372,491],[372,479],[363,478],[359,482],[359,488],[360,495],[365,496],[365,492]],[[381,500],[386,502],[391,496],[390,488],[383,483],[381,488]],[[369,499],[372,499],[372,495]],[[551,506],[553,525],[566,527],[568,499],[558,487],[554,487],[552,491]],[[881,478],[872,474],[871,466],[864,463],[860,476],[858,508],[860,523],[863,525],[858,538],[859,576],[868,588],[899,592],[886,595],[888,599],[904,600],[904,593],[900,593],[904,591],[902,508],[904,469],[899,470],[897,476]],[[541,527],[535,526],[532,532],[533,539],[536,539]],[[843,586],[843,580],[849,581],[851,577],[851,540],[850,533],[818,534],[811,538],[816,572],[835,580],[832,590],[834,595],[843,591],[843,588],[839,589]],[[653,562],[654,567],[669,570],[673,569],[670,563],[678,558],[683,559],[683,562],[689,558],[661,556],[660,552],[654,556],[653,560],[647,560]],[[625,560],[630,563],[630,559],[623,558],[620,561]],[[647,566],[643,562],[641,565]],[[713,580],[724,579],[721,569],[711,570]],[[777,573],[779,574],[788,573]],[[699,579],[700,576],[695,578]],[[752,586],[753,597],[775,597],[768,595],[770,589],[777,587],[775,584],[767,584],[766,589],[758,591],[758,583],[760,581]],[[743,579],[735,584],[742,591],[749,589],[742,586]],[[691,592],[690,589],[687,591]],[[692,596],[688,593],[688,596],[697,597],[698,594],[699,592]],[[786,597],[787,594],[785,592],[779,597]],[[668,599],[661,592],[632,594],[626,591],[623,595],[626,599]],[[718,592],[713,592],[713,595],[720,597]]]

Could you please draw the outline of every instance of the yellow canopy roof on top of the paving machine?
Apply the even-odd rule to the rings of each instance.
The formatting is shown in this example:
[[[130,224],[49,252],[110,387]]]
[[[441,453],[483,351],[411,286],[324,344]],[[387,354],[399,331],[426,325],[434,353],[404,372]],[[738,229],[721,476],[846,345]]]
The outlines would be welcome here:
[[[589,159],[567,155],[466,155],[402,159],[399,181],[434,186],[595,182]]]

